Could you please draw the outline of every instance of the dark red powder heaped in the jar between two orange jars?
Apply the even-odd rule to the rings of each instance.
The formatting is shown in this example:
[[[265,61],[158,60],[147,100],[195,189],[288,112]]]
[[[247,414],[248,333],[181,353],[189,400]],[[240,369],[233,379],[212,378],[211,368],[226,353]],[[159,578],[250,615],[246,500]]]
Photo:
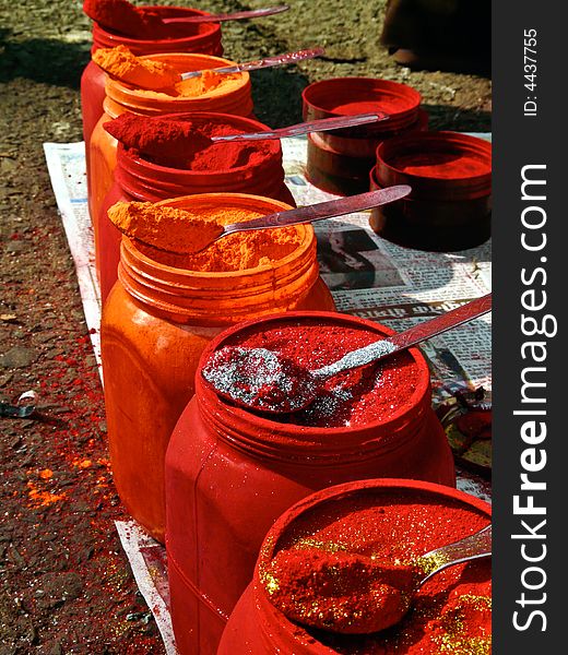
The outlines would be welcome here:
[[[214,143],[212,136],[245,132],[221,120],[152,118],[126,112],[103,127],[134,156],[140,154],[154,164],[170,168],[232,170],[259,166],[269,158],[282,156],[277,141]]]

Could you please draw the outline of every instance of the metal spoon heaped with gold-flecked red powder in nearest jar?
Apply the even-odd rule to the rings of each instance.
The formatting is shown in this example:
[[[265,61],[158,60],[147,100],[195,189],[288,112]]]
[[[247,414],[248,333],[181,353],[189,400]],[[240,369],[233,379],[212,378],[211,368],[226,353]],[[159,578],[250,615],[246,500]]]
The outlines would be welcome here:
[[[300,549],[280,551],[261,580],[272,604],[288,618],[330,632],[368,634],[401,621],[419,587],[436,573],[490,555],[492,524],[426,552],[407,567],[343,552],[311,551],[307,556]],[[281,571],[287,574],[282,575]],[[294,584],[288,586],[291,572]],[[336,605],[330,603],[335,596]],[[331,608],[326,612],[321,610],[322,598]],[[313,611],[315,607],[318,611]],[[350,607],[359,611],[350,611]]]

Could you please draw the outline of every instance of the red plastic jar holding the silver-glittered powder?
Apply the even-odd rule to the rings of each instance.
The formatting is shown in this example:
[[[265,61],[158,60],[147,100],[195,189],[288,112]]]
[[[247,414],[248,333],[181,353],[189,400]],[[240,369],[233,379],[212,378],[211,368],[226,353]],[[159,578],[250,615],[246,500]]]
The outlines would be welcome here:
[[[387,420],[358,427],[276,422],[221,400],[205,385],[200,371],[213,352],[289,324],[392,334],[346,314],[292,312],[237,325],[204,349],[196,394],[166,452],[170,608],[184,655],[215,653],[267,531],[294,502],[330,485],[377,476],[455,484],[452,454],[430,406],[428,366],[416,348],[404,355],[415,367],[414,392]]]

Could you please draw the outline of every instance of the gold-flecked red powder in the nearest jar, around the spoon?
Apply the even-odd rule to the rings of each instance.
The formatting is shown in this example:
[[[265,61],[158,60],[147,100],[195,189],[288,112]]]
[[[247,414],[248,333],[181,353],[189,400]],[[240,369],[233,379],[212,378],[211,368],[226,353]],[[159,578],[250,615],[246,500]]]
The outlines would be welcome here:
[[[440,501],[427,492],[393,490],[367,491],[354,498],[323,503],[296,519],[279,540],[276,557],[260,569],[260,580],[269,598],[277,606],[280,587],[293,586],[286,561],[297,558],[281,553],[358,555],[401,567],[416,565],[425,552],[482,529],[488,519],[459,501]],[[401,569],[402,571],[404,569]],[[341,609],[357,610],[368,581],[360,577],[360,594],[351,598],[321,594],[317,611],[333,621]],[[304,593],[304,592],[301,592]],[[345,604],[354,604],[348,607]],[[282,607],[281,607],[282,609]],[[298,620],[296,618],[296,620]],[[344,617],[338,615],[338,620]],[[300,621],[301,622],[301,621]],[[305,627],[309,635],[334,653],[345,655],[400,653],[424,655],[488,655],[492,651],[492,583],[487,558],[457,564],[430,577],[415,593],[410,611],[395,626],[367,635],[334,634]]]

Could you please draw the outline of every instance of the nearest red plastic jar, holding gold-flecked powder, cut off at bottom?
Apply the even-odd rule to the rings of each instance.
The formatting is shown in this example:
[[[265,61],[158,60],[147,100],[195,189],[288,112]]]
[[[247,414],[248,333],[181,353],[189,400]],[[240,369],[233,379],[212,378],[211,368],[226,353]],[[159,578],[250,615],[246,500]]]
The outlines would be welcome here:
[[[308,516],[313,516],[317,521],[318,512],[330,508],[333,504],[341,508],[345,502],[355,499],[365,499],[365,496],[372,495],[377,499],[377,504],[380,507],[381,497],[384,502],[389,502],[393,493],[404,493],[409,499],[414,495],[417,502],[424,502],[427,498],[429,502],[439,505],[453,507],[461,511],[462,516],[470,516],[471,523],[461,536],[468,536],[475,529],[481,529],[490,520],[492,507],[489,503],[475,498],[463,491],[449,489],[439,485],[427,483],[417,483],[406,479],[376,479],[367,481],[358,481],[346,485],[339,485],[330,489],[326,489],[318,493],[313,493],[306,498],[303,502],[297,503],[274,523],[270,532],[267,534],[263,541],[260,555],[256,564],[252,581],[242,594],[237,606],[230,615],[228,623],[223,633],[217,655],[233,655],[239,653],[241,655],[276,655],[280,653],[294,653],[294,655],[332,655],[339,651],[328,644],[324,644],[318,639],[312,631],[307,631],[300,624],[289,621],[284,614],[276,609],[267,595],[264,586],[261,582],[261,571],[274,553],[279,549],[279,544],[291,534],[293,527],[301,521],[309,521]],[[428,521],[428,505],[424,505],[425,523]],[[330,510],[328,510],[330,511]],[[336,509],[331,509],[331,512],[336,514]],[[429,520],[429,524],[436,526],[436,517]],[[431,529],[431,528],[430,528]],[[436,529],[436,528],[435,528]],[[458,537],[458,538],[461,538]],[[441,546],[443,541],[434,539],[435,546]],[[464,564],[459,564],[464,568]],[[484,577],[488,582],[490,579],[490,560],[478,560],[470,567],[476,567],[478,576]],[[440,573],[438,575],[443,575]],[[471,585],[474,590],[474,585]],[[426,587],[425,587],[426,588]],[[472,592],[475,593],[475,592]],[[446,597],[448,594],[446,594]],[[389,629],[388,634],[395,635],[397,627]],[[387,640],[380,641],[381,633],[377,633],[377,643],[374,643],[372,636],[362,644],[355,635],[346,636],[342,641],[341,653],[383,653],[391,652],[394,648],[393,644],[389,644]],[[484,635],[485,640],[490,639],[490,635]],[[453,652],[451,646],[451,636],[445,641],[445,650]],[[454,635],[459,642],[459,631]],[[351,644],[350,644],[351,641]],[[475,651],[489,652],[487,648],[481,648],[481,640],[474,642],[477,644]],[[351,647],[350,647],[351,645]],[[390,645],[390,648],[389,648]],[[490,646],[489,646],[490,648]],[[461,651],[457,648],[455,652]],[[406,647],[397,647],[392,652],[401,653],[401,655],[418,655],[430,652],[424,646],[414,646],[412,640]],[[436,647],[431,652],[438,652]],[[473,652],[473,650],[472,650]]]

